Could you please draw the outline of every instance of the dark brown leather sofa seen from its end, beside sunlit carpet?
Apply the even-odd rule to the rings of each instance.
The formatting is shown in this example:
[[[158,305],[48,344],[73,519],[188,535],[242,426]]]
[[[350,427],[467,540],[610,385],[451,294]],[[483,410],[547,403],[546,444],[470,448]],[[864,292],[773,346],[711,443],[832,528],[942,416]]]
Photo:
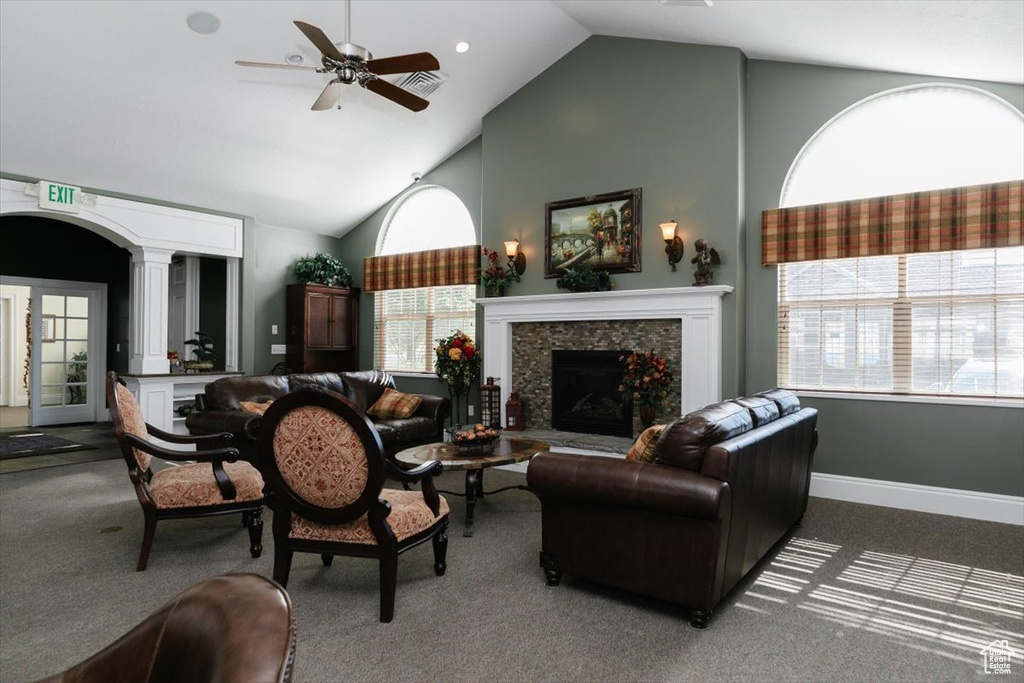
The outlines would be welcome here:
[[[653,462],[543,453],[541,566],[674,603],[708,626],[716,605],[807,509],[817,411],[771,390],[670,424]]]

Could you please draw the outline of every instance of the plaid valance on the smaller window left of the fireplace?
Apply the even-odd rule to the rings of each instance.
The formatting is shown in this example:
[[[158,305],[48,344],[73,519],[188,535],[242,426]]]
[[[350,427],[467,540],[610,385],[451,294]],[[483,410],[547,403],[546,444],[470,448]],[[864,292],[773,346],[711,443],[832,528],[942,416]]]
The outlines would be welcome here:
[[[475,285],[479,281],[480,245],[362,259],[365,292]]]

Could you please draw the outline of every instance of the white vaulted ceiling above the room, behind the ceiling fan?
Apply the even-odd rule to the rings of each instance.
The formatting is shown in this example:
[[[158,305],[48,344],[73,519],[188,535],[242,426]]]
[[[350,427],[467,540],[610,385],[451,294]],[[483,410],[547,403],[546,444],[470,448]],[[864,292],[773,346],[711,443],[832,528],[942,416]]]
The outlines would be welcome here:
[[[219,29],[193,32],[197,11]],[[430,51],[447,81],[419,114],[356,86],[311,112],[328,76],[233,63],[317,65],[293,19],[344,40],[340,0],[3,0],[0,171],[342,234],[593,34],[1024,82],[1022,0],[355,0],[352,42],[375,57]]]

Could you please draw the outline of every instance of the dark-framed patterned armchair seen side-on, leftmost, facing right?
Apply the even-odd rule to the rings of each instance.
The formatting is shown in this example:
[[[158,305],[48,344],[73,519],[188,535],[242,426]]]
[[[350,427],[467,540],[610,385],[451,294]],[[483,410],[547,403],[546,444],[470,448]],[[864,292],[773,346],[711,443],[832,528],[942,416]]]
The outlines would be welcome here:
[[[230,434],[182,436],[147,424],[135,396],[116,373],[106,374],[106,404],[121,453],[128,464],[128,477],[145,517],[142,550],[136,571],[143,571],[161,519],[204,517],[242,513],[249,528],[250,552],[263,551],[263,477],[245,462],[239,452],[225,444]],[[157,445],[151,436],[170,443],[195,444],[196,451],[173,451]],[[154,472],[153,457],[182,463]]]

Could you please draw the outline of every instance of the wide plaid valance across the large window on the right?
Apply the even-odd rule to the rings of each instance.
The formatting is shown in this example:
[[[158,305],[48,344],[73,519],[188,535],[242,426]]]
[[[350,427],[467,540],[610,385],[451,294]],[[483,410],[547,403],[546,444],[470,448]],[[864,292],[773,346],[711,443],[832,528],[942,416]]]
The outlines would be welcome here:
[[[1024,180],[761,213],[765,265],[1024,245]]]

